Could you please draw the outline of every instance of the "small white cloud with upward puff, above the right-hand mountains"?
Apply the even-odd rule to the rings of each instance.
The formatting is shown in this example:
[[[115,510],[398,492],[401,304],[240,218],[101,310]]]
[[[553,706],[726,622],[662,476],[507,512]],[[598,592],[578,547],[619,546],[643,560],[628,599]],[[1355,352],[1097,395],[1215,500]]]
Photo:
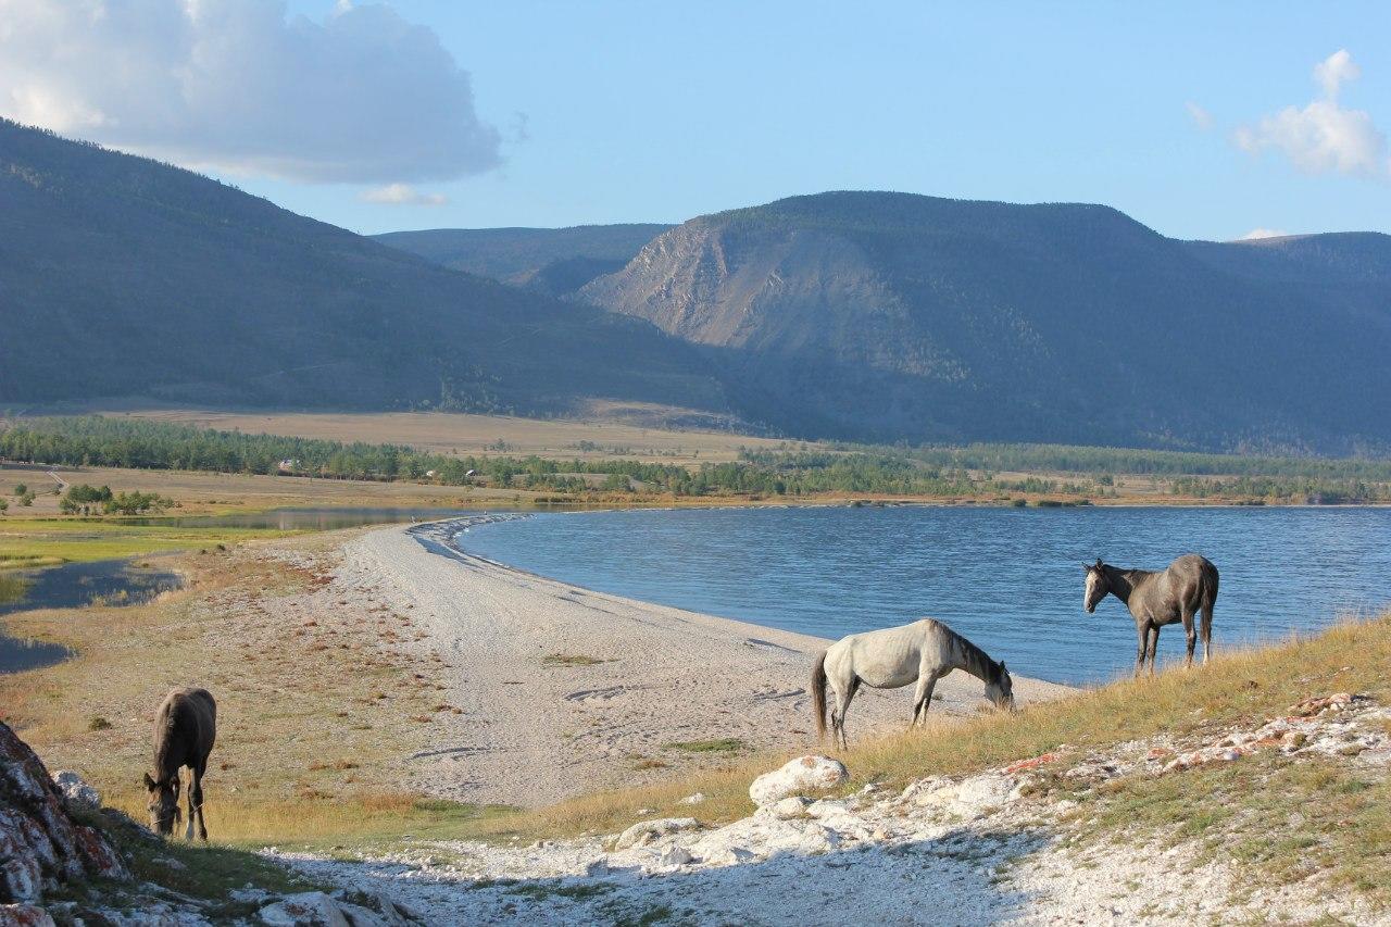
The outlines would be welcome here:
[[[1287,106],[1266,116],[1255,125],[1242,125],[1232,141],[1246,152],[1276,150],[1308,174],[1337,171],[1360,177],[1391,175],[1387,138],[1366,110],[1338,106],[1338,93],[1346,81],[1362,71],[1346,50],[1319,63],[1313,77],[1323,88],[1323,99],[1303,109]]]

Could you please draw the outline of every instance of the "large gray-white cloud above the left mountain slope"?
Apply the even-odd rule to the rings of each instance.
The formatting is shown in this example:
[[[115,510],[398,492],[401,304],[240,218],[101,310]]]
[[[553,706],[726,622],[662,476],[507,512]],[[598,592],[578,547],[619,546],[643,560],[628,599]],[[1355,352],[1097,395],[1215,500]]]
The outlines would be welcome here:
[[[426,26],[341,3],[0,0],[0,116],[188,167],[307,182],[497,167],[469,74]]]

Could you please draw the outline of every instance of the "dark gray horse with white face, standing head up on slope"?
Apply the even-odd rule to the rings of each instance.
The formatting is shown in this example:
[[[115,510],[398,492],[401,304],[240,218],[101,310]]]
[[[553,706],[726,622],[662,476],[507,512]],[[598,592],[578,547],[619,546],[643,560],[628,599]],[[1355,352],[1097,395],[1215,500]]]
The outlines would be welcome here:
[[[1145,668],[1145,653],[1149,651],[1149,675],[1155,675],[1155,650],[1159,649],[1159,629],[1164,625],[1184,622],[1188,635],[1188,658],[1184,667],[1193,665],[1193,644],[1198,632],[1193,629],[1193,615],[1203,612],[1203,663],[1213,653],[1213,604],[1217,601],[1217,568],[1212,561],[1198,554],[1184,554],[1168,569],[1123,569],[1103,564],[1097,557],[1095,564],[1082,564],[1086,569],[1086,592],[1082,605],[1088,612],[1096,611],[1096,603],[1107,593],[1116,596],[1135,618],[1135,636],[1139,637],[1139,653],[1135,657],[1135,675]],[[1148,644],[1146,644],[1148,640]]]

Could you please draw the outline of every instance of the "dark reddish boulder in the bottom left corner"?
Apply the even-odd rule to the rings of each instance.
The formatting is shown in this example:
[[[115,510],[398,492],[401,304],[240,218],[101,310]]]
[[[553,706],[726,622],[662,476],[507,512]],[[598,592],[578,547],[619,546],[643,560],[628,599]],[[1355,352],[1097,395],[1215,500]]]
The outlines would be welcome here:
[[[0,722],[0,898],[39,902],[50,887],[96,877],[131,874],[99,831],[70,817],[43,763]]]

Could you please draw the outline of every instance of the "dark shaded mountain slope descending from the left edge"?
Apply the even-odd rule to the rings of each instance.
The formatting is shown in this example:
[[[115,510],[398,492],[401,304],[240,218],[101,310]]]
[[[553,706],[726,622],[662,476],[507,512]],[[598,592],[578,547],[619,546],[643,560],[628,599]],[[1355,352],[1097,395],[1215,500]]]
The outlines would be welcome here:
[[[723,408],[651,324],[0,121],[0,402]]]

